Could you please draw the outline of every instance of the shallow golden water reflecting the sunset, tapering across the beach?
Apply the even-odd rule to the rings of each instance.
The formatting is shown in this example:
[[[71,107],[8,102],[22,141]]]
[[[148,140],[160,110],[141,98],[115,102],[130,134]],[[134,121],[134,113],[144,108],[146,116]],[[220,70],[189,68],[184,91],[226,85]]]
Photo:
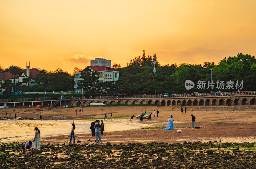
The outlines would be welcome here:
[[[76,120],[75,133],[91,132],[92,120]],[[70,134],[73,121],[69,120],[1,120],[0,142],[18,142],[33,140],[35,127],[41,132],[41,137]],[[106,131],[120,131],[142,128],[140,124],[128,122],[104,121]]]

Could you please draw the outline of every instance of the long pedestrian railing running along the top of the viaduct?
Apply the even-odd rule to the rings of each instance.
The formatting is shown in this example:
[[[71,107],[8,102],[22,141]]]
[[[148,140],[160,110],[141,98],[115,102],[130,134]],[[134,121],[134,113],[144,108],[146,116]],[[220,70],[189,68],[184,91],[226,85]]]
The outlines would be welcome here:
[[[228,97],[228,96],[256,96],[256,91],[244,92],[218,92],[218,93],[182,93],[182,94],[158,94],[158,95],[105,95],[92,97],[39,97],[23,99],[0,99],[0,103],[6,102],[35,102],[35,101],[57,101],[57,100],[92,100],[92,99],[156,99],[156,98],[185,98],[185,97]]]

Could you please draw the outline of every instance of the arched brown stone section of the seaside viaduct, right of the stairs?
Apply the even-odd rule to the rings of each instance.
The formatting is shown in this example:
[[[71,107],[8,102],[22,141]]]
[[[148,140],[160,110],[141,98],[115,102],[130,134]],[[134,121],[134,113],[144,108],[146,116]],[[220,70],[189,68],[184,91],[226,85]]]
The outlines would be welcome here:
[[[90,105],[91,103],[105,103],[105,104],[156,104],[162,106],[241,106],[241,105],[256,105],[256,93],[254,95],[219,95],[219,96],[197,96],[181,95],[178,97],[162,96],[162,97],[127,97],[120,96],[114,98],[84,98],[70,100],[71,105],[78,104]]]

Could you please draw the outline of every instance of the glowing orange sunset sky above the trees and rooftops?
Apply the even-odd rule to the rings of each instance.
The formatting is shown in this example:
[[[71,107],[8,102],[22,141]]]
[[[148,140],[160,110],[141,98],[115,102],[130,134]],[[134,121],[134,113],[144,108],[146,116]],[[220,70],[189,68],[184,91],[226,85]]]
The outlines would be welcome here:
[[[73,73],[100,56],[126,66],[255,55],[256,1],[1,0],[0,64]]]

